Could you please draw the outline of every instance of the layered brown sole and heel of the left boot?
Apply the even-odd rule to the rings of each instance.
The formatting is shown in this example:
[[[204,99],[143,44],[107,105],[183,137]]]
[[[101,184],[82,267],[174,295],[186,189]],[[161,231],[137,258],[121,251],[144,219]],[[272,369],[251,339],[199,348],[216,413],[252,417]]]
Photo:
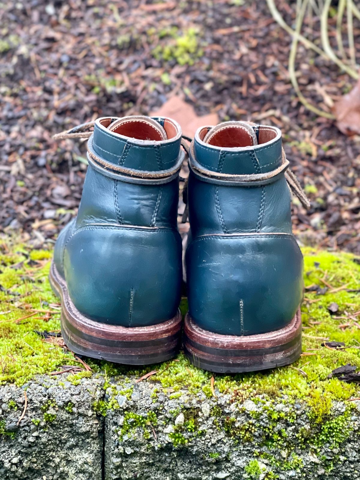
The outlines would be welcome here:
[[[149,326],[123,327],[95,322],[79,312],[64,279],[51,264],[50,284],[61,299],[61,333],[73,352],[127,365],[147,365],[173,358],[180,349],[181,312]]]

